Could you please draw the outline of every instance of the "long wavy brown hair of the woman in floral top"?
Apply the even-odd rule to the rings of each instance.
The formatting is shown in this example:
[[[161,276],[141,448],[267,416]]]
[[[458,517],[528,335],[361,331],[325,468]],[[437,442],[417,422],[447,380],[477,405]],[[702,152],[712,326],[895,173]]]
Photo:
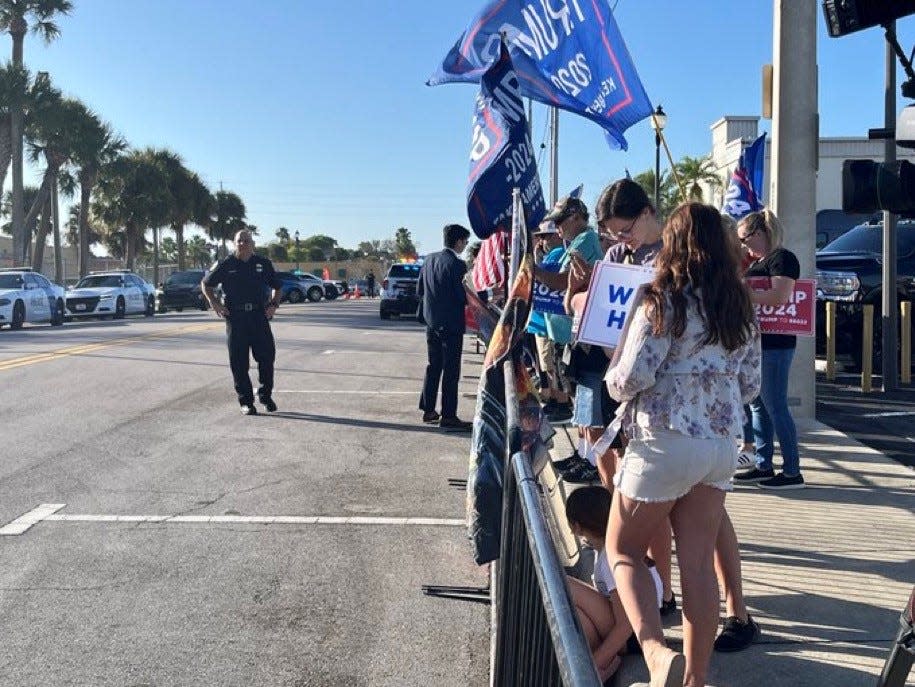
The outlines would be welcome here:
[[[705,322],[703,345],[720,343],[733,351],[756,329],[750,292],[740,278],[740,261],[718,210],[702,203],[684,203],[667,220],[663,246],[655,258],[657,275],[645,298],[655,336],[666,333],[665,309],[672,306],[670,334],[686,330],[687,298],[699,301]],[[692,293],[689,293],[689,292]]]

